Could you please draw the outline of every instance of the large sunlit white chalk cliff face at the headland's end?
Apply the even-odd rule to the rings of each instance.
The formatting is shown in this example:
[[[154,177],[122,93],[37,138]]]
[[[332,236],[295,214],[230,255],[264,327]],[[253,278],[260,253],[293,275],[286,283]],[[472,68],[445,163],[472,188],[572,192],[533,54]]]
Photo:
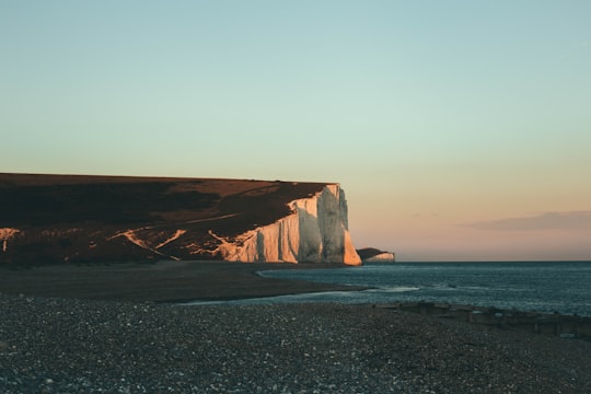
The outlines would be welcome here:
[[[218,253],[230,262],[361,264],[348,230],[345,193],[338,184],[326,185],[289,207],[291,215],[234,240],[211,233],[221,241]]]

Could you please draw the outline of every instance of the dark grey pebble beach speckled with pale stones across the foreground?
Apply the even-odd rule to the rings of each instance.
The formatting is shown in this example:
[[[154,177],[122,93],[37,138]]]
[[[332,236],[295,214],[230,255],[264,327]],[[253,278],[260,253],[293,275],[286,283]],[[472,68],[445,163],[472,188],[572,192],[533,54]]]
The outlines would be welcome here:
[[[1,393],[590,393],[591,343],[374,305],[0,296]]]

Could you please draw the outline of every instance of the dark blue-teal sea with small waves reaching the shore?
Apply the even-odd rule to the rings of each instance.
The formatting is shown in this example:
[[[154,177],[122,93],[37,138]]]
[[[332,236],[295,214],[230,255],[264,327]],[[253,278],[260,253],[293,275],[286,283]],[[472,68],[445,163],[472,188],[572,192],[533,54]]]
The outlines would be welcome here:
[[[591,262],[382,263],[347,268],[269,269],[258,275],[368,289],[222,303],[426,301],[591,316]]]

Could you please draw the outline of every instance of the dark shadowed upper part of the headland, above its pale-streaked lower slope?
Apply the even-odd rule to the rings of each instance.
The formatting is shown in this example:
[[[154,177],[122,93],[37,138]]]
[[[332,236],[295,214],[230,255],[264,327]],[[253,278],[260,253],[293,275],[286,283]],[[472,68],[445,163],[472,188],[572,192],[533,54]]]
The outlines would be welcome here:
[[[240,233],[289,213],[323,183],[0,173],[0,228],[99,222],[172,224],[225,220]],[[222,230],[222,229],[219,229]],[[227,231],[222,231],[227,232]]]

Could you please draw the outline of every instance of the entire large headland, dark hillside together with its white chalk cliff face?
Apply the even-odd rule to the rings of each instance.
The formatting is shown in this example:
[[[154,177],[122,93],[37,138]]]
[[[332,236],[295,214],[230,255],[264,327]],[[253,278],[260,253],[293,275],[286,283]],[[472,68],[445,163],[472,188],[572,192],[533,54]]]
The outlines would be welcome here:
[[[360,265],[334,183],[0,174],[0,263]]]

